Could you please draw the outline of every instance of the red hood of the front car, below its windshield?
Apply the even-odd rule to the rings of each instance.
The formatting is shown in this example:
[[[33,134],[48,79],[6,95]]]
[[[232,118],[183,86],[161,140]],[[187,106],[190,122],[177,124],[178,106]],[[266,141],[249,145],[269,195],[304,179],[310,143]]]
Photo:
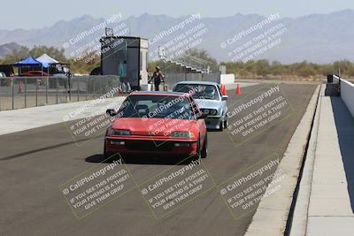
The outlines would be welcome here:
[[[170,118],[117,118],[113,129],[130,130],[132,135],[170,136],[173,131],[198,133],[196,120]]]

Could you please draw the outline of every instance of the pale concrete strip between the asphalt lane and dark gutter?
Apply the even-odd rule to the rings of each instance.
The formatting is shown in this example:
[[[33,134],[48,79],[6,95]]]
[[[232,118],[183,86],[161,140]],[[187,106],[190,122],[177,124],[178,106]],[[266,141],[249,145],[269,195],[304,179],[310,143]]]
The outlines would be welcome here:
[[[289,212],[296,189],[297,179],[305,153],[309,134],[312,131],[312,120],[319,99],[319,87],[316,88],[312,99],[307,106],[304,117],[301,119],[296,131],[289,141],[288,148],[278,165],[278,171],[283,171],[287,178],[276,193],[262,198],[246,236],[283,236],[285,234]],[[270,193],[272,185],[268,185],[266,191]]]

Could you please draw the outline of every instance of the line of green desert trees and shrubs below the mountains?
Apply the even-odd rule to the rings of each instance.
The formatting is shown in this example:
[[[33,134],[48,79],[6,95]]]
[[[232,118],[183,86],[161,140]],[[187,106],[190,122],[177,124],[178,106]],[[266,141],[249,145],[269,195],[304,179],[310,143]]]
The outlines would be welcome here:
[[[21,47],[14,49],[10,54],[4,58],[0,58],[0,64],[14,64],[19,60],[25,59],[29,56],[40,57],[43,53],[48,54],[61,62],[69,62],[71,64],[72,72],[89,73],[95,67],[100,65],[100,55],[98,52],[87,52],[80,58],[67,59],[65,57],[64,49],[57,49],[48,46],[35,46],[32,49]],[[218,61],[210,56],[205,49],[189,49],[179,58],[196,57],[205,61],[210,65],[212,72],[219,71]],[[152,73],[155,67],[160,65],[160,61],[150,61],[148,71]],[[268,76],[294,76],[294,77],[323,77],[327,74],[336,74],[338,68],[341,68],[342,77],[354,77],[354,64],[349,60],[336,61],[332,64],[319,65],[303,61],[289,65],[283,65],[278,61],[269,62],[266,59],[257,61],[237,61],[237,62],[222,62],[220,65],[227,65],[227,73],[234,73],[237,78],[252,78],[252,77],[268,77]],[[181,72],[181,66],[169,64],[163,67],[172,72]]]

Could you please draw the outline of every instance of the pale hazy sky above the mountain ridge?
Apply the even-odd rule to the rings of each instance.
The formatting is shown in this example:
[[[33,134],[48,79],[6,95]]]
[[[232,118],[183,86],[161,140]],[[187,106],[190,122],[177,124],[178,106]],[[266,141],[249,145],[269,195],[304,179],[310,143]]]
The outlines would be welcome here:
[[[353,0],[2,0],[0,29],[49,27],[61,19],[74,19],[84,14],[108,17],[121,12],[123,18],[142,13],[181,16],[200,12],[202,17],[231,16],[235,13],[269,15],[280,12],[282,17],[297,17],[312,13],[327,13],[354,9]]]

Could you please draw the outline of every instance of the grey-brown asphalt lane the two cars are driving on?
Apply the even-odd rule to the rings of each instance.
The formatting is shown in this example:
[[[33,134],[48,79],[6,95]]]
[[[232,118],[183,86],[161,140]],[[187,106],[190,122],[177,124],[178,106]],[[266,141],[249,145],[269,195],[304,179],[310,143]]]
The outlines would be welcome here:
[[[64,124],[0,136],[0,235],[243,235],[287,178],[276,166],[316,88],[276,86],[227,91],[233,127],[208,132],[201,161],[101,164],[104,134],[74,141]]]

